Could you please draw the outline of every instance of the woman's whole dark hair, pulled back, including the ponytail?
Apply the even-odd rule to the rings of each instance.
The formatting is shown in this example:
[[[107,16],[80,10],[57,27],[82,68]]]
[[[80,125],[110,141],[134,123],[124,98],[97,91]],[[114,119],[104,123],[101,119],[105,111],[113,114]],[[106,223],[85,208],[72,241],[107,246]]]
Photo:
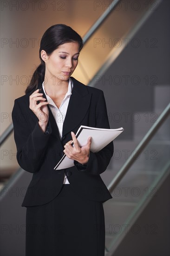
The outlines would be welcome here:
[[[79,51],[83,48],[81,36],[71,27],[64,24],[56,24],[49,27],[43,34],[39,48],[39,59],[41,64],[36,68],[33,77],[26,88],[26,94],[38,88],[38,84],[44,81],[46,65],[41,58],[41,51],[45,50],[48,55],[52,54],[60,45],[68,42],[78,42]]]

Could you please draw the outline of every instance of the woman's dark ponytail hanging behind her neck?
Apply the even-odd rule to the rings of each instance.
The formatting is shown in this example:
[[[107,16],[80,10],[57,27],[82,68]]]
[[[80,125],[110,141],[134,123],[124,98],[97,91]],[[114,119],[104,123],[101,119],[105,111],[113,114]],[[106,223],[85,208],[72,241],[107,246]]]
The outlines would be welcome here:
[[[43,61],[34,71],[32,79],[26,88],[26,94],[31,92],[33,89],[36,90],[38,89],[39,83],[42,83],[44,81],[44,76],[45,76],[45,62]]]

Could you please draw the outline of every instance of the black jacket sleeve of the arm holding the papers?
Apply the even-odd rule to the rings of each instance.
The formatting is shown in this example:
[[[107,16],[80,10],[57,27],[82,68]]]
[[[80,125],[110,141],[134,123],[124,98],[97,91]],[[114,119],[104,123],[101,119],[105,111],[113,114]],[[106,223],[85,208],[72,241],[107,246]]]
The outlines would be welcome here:
[[[103,92],[98,99],[98,103],[95,110],[96,127],[97,128],[110,128],[107,109],[105,104],[105,97]],[[105,148],[101,149],[97,153],[90,151],[89,161],[82,167],[78,162],[74,162],[79,171],[85,171],[92,175],[99,175],[103,173],[113,155],[113,142],[109,143]]]

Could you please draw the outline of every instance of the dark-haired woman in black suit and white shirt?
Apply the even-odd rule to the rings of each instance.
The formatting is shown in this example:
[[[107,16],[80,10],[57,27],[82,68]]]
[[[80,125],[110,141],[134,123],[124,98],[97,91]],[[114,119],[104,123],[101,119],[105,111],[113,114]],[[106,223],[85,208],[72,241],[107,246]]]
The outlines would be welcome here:
[[[26,207],[26,256],[104,256],[103,202],[111,198],[100,174],[113,144],[80,148],[80,125],[109,128],[104,94],[71,77],[83,47],[81,37],[63,24],[49,27],[40,43],[41,64],[26,94],[13,107],[17,160],[33,173]],[[74,147],[71,143],[74,142]],[[54,170],[65,153],[71,168]]]

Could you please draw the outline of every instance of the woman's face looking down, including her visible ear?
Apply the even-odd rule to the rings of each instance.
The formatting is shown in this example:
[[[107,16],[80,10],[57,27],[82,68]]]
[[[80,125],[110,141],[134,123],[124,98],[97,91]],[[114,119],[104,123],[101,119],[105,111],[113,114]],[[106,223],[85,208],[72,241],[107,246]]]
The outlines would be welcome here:
[[[41,58],[46,63],[46,79],[55,81],[67,81],[78,65],[79,44],[69,42],[60,45],[49,56],[44,50],[41,51]]]

